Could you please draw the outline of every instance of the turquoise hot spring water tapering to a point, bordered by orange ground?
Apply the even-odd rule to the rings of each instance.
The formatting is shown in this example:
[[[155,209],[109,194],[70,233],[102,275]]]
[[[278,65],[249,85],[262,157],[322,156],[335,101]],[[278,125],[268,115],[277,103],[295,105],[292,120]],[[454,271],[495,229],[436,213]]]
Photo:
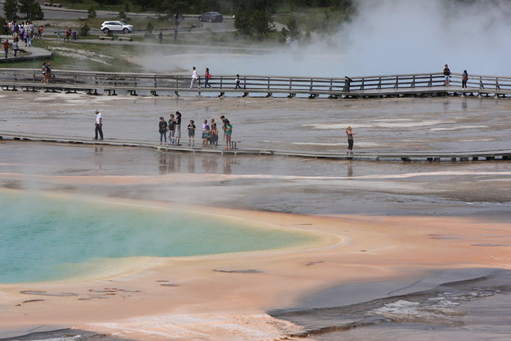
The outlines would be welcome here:
[[[77,276],[81,264],[292,247],[309,234],[172,210],[0,192],[0,283]]]

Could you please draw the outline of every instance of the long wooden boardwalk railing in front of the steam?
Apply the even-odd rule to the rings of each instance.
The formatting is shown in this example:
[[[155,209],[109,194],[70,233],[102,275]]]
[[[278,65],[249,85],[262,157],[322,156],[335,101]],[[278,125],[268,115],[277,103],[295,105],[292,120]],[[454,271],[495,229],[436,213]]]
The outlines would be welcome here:
[[[469,75],[468,89],[461,89],[461,74],[451,75],[451,86],[446,87],[441,72],[416,75],[378,75],[368,77],[287,77],[243,75],[239,87],[236,76],[215,75],[210,81],[211,88],[204,88],[204,78],[199,77],[200,89],[191,89],[189,75],[165,75],[146,73],[88,72],[53,70],[50,84],[41,82],[37,69],[0,69],[0,86],[3,90],[25,91],[84,91],[88,94],[109,94],[124,92],[136,94],[175,94],[180,92],[241,94],[284,94],[287,97],[309,98],[353,98],[353,97],[395,97],[439,94],[478,94],[502,96],[511,95],[511,77]]]

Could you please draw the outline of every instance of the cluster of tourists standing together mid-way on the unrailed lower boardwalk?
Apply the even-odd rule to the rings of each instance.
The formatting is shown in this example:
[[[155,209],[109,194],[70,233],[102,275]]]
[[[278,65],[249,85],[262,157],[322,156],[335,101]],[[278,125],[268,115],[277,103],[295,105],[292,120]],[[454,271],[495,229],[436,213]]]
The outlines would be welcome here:
[[[232,125],[229,119],[226,119],[224,115],[220,117],[222,121],[222,131],[224,131],[224,140],[226,141],[226,149],[232,149],[231,134]],[[188,131],[188,146],[195,146],[195,126],[194,120],[190,120],[187,126]],[[169,144],[175,146],[181,146],[181,113],[175,112],[170,114],[170,119],[165,120],[165,117],[160,117],[158,122],[158,132],[160,133],[160,144]],[[167,140],[168,136],[168,140]],[[214,119],[208,121],[204,119],[202,123],[202,148],[216,148],[219,140],[219,130],[216,126]]]

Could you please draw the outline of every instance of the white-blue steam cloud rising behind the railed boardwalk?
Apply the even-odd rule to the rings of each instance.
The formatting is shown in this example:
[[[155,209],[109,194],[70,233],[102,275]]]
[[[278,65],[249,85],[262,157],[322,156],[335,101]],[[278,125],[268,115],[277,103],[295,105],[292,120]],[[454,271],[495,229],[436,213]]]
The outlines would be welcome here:
[[[196,65],[216,75],[343,77],[452,72],[511,75],[508,62],[511,1],[359,0],[357,15],[331,36],[307,46],[201,49],[152,63],[158,72]]]

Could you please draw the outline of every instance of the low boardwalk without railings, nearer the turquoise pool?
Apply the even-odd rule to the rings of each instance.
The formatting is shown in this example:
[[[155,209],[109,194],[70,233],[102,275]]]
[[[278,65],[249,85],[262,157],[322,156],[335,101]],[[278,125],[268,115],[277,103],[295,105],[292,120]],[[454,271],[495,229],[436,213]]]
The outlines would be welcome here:
[[[187,139],[182,139],[187,141]],[[404,161],[404,162],[441,162],[441,161],[510,161],[511,149],[498,151],[402,151],[393,153],[370,153],[360,152],[356,154],[344,154],[335,152],[309,152],[309,151],[290,151],[278,149],[258,149],[258,148],[201,148],[201,141],[197,141],[197,146],[187,145],[165,145],[158,144],[155,141],[135,141],[121,139],[107,139],[102,141],[94,141],[91,139],[83,139],[72,136],[52,136],[39,134],[22,134],[14,132],[0,132],[1,141],[33,141],[48,142],[59,144],[84,144],[94,146],[128,146],[139,148],[153,148],[158,151],[183,152],[183,153],[216,153],[220,155],[253,155],[253,156],[283,156],[283,157],[300,157],[300,158],[324,158],[339,160],[361,160],[361,161]]]

